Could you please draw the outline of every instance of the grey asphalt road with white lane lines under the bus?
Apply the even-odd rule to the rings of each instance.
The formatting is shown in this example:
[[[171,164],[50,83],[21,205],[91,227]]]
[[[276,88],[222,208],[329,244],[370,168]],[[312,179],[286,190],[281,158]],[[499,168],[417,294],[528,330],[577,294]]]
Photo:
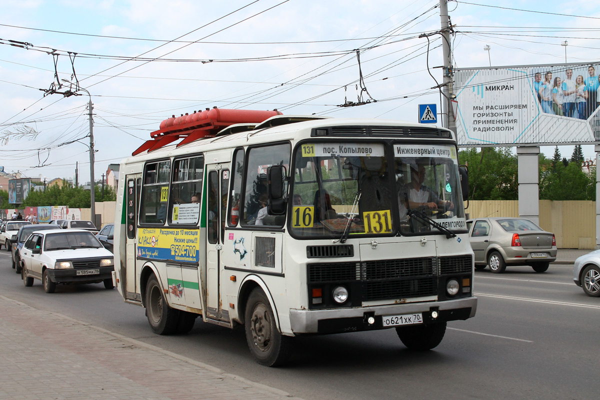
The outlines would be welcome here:
[[[572,265],[475,273],[475,318],[449,324],[437,348],[409,351],[395,330],[296,338],[284,368],[257,365],[244,332],[196,323],[157,336],[144,309],[102,284],[24,287],[0,250],[3,296],[127,335],[305,399],[590,399],[598,394],[600,299],[572,283]]]

